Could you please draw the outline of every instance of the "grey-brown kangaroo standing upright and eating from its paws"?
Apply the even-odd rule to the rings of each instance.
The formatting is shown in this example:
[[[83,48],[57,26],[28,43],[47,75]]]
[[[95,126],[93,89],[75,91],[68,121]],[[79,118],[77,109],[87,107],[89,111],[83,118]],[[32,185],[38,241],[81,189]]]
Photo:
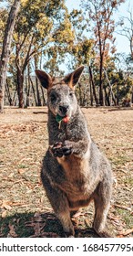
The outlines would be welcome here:
[[[67,237],[75,230],[70,213],[94,200],[93,228],[108,237],[105,224],[112,194],[112,173],[106,156],[87,130],[87,121],[75,94],[84,66],[62,80],[43,70],[36,76],[47,90],[49,148],[43,160],[41,179],[56,217]]]

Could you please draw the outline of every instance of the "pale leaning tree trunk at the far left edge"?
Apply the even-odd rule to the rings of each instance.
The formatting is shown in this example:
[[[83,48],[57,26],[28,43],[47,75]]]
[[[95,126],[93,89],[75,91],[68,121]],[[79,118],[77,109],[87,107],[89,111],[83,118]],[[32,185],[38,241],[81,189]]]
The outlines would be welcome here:
[[[15,0],[14,4],[11,7],[5,27],[5,37],[3,41],[3,49],[0,59],[0,112],[4,111],[6,72],[10,57],[13,31],[15,27],[15,17],[18,13],[19,6],[20,0]]]

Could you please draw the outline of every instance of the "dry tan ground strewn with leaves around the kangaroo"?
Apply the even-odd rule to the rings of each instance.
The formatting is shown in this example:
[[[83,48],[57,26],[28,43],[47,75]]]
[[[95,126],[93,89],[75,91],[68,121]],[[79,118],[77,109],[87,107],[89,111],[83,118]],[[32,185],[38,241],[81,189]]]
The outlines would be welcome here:
[[[133,237],[133,109],[83,108],[88,130],[113,168],[107,217],[112,237]],[[45,195],[40,168],[47,142],[47,109],[5,108],[0,115],[0,237],[64,237]],[[94,208],[73,218],[76,237],[97,237]]]

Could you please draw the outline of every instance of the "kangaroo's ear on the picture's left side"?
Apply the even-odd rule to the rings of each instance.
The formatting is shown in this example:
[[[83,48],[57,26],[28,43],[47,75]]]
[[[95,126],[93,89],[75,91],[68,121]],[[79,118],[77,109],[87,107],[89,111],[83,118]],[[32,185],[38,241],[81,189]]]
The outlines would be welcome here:
[[[36,77],[41,82],[41,85],[44,88],[48,89],[48,87],[51,86],[52,84],[52,78],[50,77],[50,75],[48,75],[45,71],[39,70],[39,69],[36,69],[35,72],[36,72]]]

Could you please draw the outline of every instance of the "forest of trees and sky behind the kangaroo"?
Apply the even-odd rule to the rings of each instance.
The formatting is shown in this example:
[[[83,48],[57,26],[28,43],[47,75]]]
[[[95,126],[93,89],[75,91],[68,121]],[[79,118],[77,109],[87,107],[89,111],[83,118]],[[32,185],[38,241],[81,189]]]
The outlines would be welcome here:
[[[132,105],[133,9],[128,0],[0,2],[1,112],[4,104],[46,105],[35,69],[62,77],[80,65],[85,65],[76,91],[80,105]],[[14,29],[7,35],[15,5]],[[118,12],[122,5],[124,15]],[[10,48],[5,37],[11,37]],[[124,43],[123,52],[118,52],[117,37]]]

